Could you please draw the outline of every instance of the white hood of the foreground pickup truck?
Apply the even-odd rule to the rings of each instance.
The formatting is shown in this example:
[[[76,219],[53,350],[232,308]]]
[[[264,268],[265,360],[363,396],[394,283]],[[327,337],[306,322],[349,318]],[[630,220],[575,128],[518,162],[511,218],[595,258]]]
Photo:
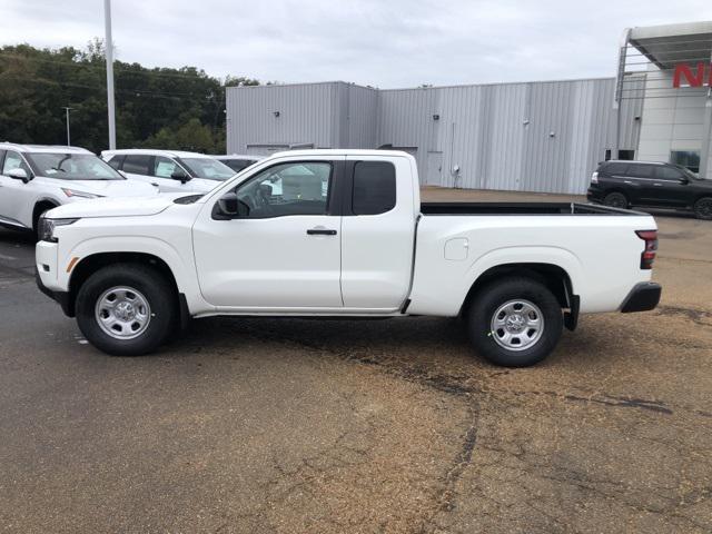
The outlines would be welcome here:
[[[185,192],[156,195],[139,198],[95,198],[86,201],[66,204],[48,211],[51,219],[85,217],[140,217],[156,215],[169,206],[176,198],[186,197]]]

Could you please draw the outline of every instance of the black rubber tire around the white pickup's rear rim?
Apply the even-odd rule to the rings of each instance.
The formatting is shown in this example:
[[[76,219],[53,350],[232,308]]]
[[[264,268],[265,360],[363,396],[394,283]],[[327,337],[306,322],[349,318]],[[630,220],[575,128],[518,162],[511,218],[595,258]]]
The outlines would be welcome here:
[[[526,327],[511,336],[512,343],[517,336],[524,339],[520,347],[525,347],[528,343],[532,343],[531,346],[516,348],[512,345],[514,348],[508,349],[501,345],[504,343],[501,334],[506,335],[506,332],[504,328],[496,330],[493,328],[493,317],[502,306],[516,303],[517,299],[538,308],[538,310],[532,309],[532,318],[536,320],[534,316],[541,313],[543,324],[536,337],[531,335],[527,338],[533,329]],[[516,305],[513,306],[516,308]],[[505,315],[505,317],[510,316]],[[552,291],[543,284],[526,277],[500,278],[490,283],[474,296],[467,314],[467,328],[475,349],[493,364],[504,367],[527,367],[548,356],[561,338],[563,323],[561,305]]]

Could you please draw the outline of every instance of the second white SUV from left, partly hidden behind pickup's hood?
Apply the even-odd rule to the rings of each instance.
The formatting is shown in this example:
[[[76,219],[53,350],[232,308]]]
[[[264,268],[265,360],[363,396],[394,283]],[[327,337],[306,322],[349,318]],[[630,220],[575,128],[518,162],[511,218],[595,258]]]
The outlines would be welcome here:
[[[178,150],[105,150],[101,157],[126,176],[156,184],[160,192],[208,192],[235,176],[212,156]]]

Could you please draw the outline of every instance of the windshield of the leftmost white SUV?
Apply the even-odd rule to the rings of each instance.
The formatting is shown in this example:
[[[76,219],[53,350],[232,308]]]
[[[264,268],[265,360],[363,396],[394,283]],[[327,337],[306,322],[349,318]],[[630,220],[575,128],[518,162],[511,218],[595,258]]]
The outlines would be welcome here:
[[[123,180],[121,175],[93,154],[30,152],[34,172],[62,180]]]

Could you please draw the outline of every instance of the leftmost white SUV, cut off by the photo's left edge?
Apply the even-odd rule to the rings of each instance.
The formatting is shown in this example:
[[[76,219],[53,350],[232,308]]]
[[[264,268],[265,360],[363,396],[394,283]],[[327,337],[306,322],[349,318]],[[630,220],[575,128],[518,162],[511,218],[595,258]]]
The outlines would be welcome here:
[[[44,211],[76,200],[157,194],[83,148],[0,142],[0,226],[7,228],[36,231]]]

